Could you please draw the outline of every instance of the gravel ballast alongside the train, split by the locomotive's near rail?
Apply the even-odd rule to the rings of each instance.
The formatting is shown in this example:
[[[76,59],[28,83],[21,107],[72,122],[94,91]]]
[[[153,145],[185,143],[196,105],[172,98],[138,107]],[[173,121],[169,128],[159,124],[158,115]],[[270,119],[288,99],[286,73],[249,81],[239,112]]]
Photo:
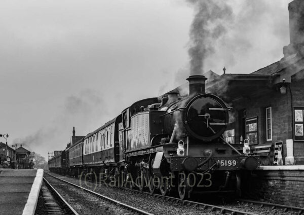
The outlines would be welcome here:
[[[110,188],[106,187],[103,183],[102,184],[95,184],[92,182],[84,182],[81,181],[79,178],[72,178],[68,176],[62,176],[59,174],[51,173],[54,176],[62,178],[68,182],[82,185],[83,187],[94,190],[97,193],[105,195],[109,198],[116,199],[123,203],[132,205],[134,207],[140,208],[142,210],[148,211],[154,214],[220,214],[219,212],[210,212],[204,211],[202,207],[194,207],[187,204],[182,204],[180,202],[171,202],[164,200],[163,198],[156,198],[155,196],[146,195],[144,193],[134,194],[131,192],[126,192],[124,190],[118,188]],[[210,203],[212,204],[212,203]],[[213,203],[215,204],[215,203]],[[219,205],[219,204],[216,204]],[[241,211],[251,212],[259,215],[266,215],[266,214],[282,214],[282,215],[293,215],[297,214],[297,212],[283,212],[283,210],[271,210],[271,208],[260,208],[257,205],[251,204],[243,204],[240,202],[229,203],[225,205],[219,205],[221,207],[226,208],[233,208]]]

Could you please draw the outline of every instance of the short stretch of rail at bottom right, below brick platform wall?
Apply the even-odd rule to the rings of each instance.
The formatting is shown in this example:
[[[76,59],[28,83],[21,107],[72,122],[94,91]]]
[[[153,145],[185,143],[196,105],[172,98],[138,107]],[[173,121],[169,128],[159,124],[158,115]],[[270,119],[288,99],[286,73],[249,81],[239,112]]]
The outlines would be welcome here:
[[[268,202],[261,202],[261,201],[253,201],[249,199],[238,199],[239,202],[243,203],[248,203],[252,205],[259,205],[261,208],[262,207],[269,207],[272,208],[272,210],[277,210],[277,209],[282,209],[284,212],[287,211],[295,211],[297,214],[303,214],[304,208],[301,207],[294,207],[294,206],[289,206],[289,205],[283,205],[283,204],[274,204],[274,203],[268,203]]]

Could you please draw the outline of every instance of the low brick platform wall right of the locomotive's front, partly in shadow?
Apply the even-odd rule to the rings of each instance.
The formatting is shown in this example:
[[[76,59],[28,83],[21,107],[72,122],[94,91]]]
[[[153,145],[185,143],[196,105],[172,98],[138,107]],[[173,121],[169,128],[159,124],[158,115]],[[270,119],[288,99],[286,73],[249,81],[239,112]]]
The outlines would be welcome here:
[[[245,197],[304,207],[304,170],[257,170],[247,180]]]

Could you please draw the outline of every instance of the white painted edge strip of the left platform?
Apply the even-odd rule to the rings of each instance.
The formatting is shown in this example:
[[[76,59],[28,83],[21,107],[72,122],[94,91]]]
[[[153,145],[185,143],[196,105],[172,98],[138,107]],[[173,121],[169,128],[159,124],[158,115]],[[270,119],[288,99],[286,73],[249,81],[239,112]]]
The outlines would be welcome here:
[[[42,181],[43,181],[43,169],[38,169],[34,183],[32,184],[30,193],[28,195],[27,202],[24,206],[22,215],[34,215],[35,214]]]

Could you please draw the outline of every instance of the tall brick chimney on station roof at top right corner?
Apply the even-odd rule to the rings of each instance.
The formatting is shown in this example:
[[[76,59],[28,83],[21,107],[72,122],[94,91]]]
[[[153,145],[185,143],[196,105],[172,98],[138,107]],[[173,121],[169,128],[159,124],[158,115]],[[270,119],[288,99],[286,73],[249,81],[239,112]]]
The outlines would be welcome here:
[[[284,56],[300,52],[304,55],[304,1],[294,0],[288,4],[290,45],[284,48]]]

